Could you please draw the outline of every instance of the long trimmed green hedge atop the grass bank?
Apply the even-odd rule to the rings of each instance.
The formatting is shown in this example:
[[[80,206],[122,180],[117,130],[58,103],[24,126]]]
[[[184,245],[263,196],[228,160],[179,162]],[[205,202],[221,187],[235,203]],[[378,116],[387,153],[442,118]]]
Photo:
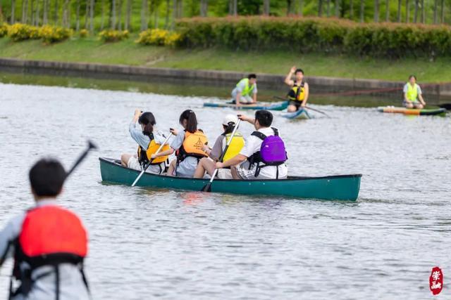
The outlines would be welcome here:
[[[284,49],[359,56],[451,56],[451,27],[361,24],[335,18],[190,18],[177,22],[178,46]]]

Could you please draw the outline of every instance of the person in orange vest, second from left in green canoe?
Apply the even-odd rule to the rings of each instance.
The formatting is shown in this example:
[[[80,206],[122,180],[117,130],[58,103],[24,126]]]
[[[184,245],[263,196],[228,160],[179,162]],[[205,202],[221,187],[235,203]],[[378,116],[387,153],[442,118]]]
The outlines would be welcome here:
[[[168,176],[192,177],[199,160],[207,157],[202,148],[208,143],[208,139],[202,130],[197,129],[196,114],[192,110],[182,112],[178,121],[183,126],[183,133],[171,129],[171,133],[175,136],[171,149],[153,154],[151,159],[176,152],[177,158],[169,164]]]

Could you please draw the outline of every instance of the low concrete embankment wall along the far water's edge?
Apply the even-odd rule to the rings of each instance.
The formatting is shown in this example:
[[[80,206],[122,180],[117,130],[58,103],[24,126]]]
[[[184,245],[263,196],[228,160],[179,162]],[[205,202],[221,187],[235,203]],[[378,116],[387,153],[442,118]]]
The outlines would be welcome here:
[[[180,70],[171,68],[102,65],[95,63],[63,63],[42,60],[0,58],[0,72],[45,74],[58,77],[89,77],[97,79],[125,79],[130,81],[166,81],[173,83],[230,86],[247,73],[209,70]],[[259,86],[286,91],[283,75],[258,74]],[[405,81],[375,79],[345,79],[307,77],[312,93],[333,96],[344,94],[373,94],[401,96]],[[434,98],[451,97],[451,83],[423,84],[423,91]]]

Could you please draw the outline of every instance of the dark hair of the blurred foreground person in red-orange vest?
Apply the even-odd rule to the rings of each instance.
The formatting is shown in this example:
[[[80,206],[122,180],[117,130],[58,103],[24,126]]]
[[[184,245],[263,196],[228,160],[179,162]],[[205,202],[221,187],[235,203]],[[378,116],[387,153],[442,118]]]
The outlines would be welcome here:
[[[55,197],[61,193],[66,171],[56,159],[39,159],[28,174],[30,185],[39,197]]]

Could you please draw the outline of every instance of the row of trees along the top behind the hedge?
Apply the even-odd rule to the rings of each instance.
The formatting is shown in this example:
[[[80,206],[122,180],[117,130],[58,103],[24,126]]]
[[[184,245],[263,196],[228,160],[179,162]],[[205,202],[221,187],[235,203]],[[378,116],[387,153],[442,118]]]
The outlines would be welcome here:
[[[349,18],[360,22],[444,23],[451,0],[0,0],[0,18],[13,24],[62,25],[89,32],[105,27],[137,32],[175,28],[182,17],[298,15]],[[382,11],[381,11],[381,6]],[[385,9],[385,11],[384,11]],[[22,14],[18,14],[21,11]],[[384,15],[381,15],[383,13]],[[83,18],[85,18],[83,20]],[[451,20],[451,19],[450,19]]]

